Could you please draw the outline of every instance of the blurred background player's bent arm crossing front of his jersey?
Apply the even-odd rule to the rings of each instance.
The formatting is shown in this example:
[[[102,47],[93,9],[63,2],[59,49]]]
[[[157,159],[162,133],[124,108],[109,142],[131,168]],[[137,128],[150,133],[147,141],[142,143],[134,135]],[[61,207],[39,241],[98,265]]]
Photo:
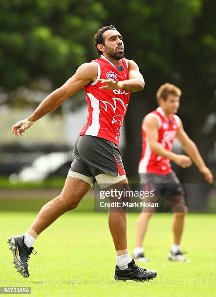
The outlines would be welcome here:
[[[176,164],[180,165],[183,168],[191,165],[191,160],[189,157],[184,155],[177,155],[174,152],[163,148],[162,144],[158,142],[159,127],[156,117],[146,116],[143,121],[143,126],[145,127],[146,137],[152,151],[154,151],[157,155],[174,161]]]

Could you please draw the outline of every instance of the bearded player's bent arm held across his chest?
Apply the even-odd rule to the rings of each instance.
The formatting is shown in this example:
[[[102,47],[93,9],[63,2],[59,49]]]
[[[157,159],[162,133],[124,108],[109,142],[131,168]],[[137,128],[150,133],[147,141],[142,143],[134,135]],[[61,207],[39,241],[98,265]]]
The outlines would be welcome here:
[[[137,64],[132,61],[128,60],[128,77],[129,79],[126,81],[119,82],[118,80],[114,81],[112,79],[109,80],[101,80],[101,83],[106,83],[106,86],[101,86],[100,90],[115,90],[115,89],[122,89],[127,92],[140,92],[144,88],[144,78],[143,75],[140,73],[139,67]]]

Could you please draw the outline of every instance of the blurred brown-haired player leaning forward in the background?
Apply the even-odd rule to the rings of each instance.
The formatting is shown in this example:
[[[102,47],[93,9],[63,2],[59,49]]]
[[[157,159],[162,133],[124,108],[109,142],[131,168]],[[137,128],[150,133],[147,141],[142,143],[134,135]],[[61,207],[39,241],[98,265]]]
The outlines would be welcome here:
[[[180,95],[181,91],[175,85],[163,84],[156,96],[159,107],[144,117],[139,175],[142,184],[156,188],[158,192],[163,191],[164,193],[165,190],[167,191],[167,187],[170,187],[169,184],[177,184],[171,186],[170,202],[173,205],[174,212],[172,226],[174,241],[168,259],[184,262],[187,260],[180,250],[180,240],[187,208],[184,203],[183,189],[171,168],[170,160],[183,168],[191,166],[193,161],[206,181],[210,183],[213,182],[213,175],[201,158],[197,146],[184,131],[179,116],[176,115],[179,109]],[[175,137],[180,141],[188,156],[172,152]],[[144,255],[143,240],[152,213],[154,210],[144,210],[137,220],[136,247],[133,251],[133,257],[140,262],[148,261]]]

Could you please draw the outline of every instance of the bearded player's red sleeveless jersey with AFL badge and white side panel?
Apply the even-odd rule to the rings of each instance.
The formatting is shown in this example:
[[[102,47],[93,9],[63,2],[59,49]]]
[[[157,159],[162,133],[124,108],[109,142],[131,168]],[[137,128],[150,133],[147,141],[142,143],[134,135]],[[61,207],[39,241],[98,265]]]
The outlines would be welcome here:
[[[128,62],[122,58],[121,65],[115,66],[103,55],[91,62],[97,64],[98,76],[95,82],[84,87],[89,114],[80,135],[105,138],[118,146],[130,93],[121,89],[99,90],[99,87],[105,85],[99,79],[128,80]]]

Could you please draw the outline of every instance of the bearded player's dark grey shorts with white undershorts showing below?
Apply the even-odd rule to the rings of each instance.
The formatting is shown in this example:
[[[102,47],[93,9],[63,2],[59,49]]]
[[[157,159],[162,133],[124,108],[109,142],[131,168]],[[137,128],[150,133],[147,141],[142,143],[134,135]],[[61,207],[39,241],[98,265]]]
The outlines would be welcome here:
[[[104,188],[126,178],[125,169],[117,145],[104,138],[79,135],[76,139],[74,160],[68,176],[95,181]]]

